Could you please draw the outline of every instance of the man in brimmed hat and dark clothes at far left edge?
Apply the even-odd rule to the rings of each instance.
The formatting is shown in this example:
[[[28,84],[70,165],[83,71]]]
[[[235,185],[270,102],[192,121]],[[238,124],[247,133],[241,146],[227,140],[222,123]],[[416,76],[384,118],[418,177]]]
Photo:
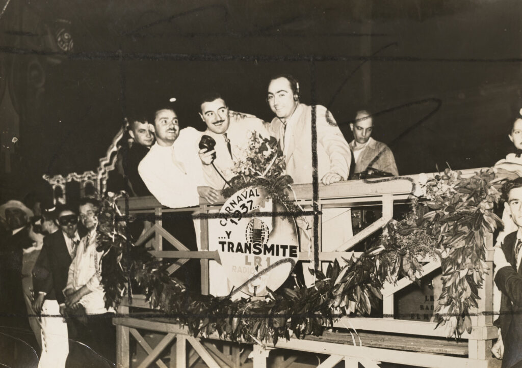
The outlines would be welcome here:
[[[0,244],[0,325],[30,330],[22,292],[23,249],[32,246],[29,239],[29,218],[32,211],[20,201],[0,206],[11,234]]]

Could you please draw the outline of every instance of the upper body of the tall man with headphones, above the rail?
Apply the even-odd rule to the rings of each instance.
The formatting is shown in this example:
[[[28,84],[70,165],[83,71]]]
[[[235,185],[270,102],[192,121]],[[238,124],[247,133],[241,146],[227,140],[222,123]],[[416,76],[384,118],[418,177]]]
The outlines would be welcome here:
[[[290,75],[272,78],[268,104],[276,117],[270,134],[286,157],[287,174],[294,183],[312,182],[312,116],[315,116],[318,178],[324,185],[347,180],[351,153],[348,142],[328,109],[299,102],[299,83]]]

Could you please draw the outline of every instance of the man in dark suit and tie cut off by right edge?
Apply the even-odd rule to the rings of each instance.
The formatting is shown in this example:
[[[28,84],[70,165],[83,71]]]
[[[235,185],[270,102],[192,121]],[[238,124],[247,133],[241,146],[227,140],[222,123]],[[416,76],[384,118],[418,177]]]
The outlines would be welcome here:
[[[502,187],[505,208],[518,227],[504,238],[502,248],[495,248],[495,284],[502,291],[499,340],[492,349],[503,358],[502,367],[522,367],[522,178]]]

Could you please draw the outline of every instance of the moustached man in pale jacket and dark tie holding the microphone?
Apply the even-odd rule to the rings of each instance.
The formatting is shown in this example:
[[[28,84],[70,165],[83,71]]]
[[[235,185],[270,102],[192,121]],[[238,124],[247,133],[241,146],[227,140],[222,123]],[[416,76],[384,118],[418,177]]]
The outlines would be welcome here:
[[[263,120],[253,115],[230,111],[218,93],[211,93],[201,100],[200,109],[199,116],[207,125],[203,134],[216,141],[214,150],[199,151],[205,182],[212,188],[223,189],[227,185],[225,180],[234,177],[234,161],[241,158],[252,133],[258,133],[266,139],[270,138],[270,134]]]

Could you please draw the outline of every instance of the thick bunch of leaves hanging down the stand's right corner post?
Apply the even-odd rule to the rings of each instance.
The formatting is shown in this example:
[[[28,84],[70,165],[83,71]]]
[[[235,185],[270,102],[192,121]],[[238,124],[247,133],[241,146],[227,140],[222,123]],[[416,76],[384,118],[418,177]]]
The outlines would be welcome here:
[[[493,211],[500,200],[499,185],[493,169],[469,178],[446,169],[423,186],[423,204],[431,211],[420,226],[438,240],[442,294],[435,315],[437,326],[446,325],[448,336],[471,332],[470,309],[478,307],[478,289],[488,272],[485,238],[502,225]]]

